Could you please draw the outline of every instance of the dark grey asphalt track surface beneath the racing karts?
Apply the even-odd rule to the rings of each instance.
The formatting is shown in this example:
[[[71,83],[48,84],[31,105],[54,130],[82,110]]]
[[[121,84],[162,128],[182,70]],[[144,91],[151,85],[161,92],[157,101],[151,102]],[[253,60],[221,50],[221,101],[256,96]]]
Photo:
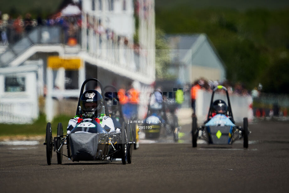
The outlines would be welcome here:
[[[46,164],[45,146],[0,145],[0,192],[288,192],[289,124],[249,124],[249,148],[199,143],[141,144],[132,164]],[[172,137],[172,136],[169,136]],[[145,140],[143,141],[145,142]],[[150,141],[151,142],[151,141]]]

